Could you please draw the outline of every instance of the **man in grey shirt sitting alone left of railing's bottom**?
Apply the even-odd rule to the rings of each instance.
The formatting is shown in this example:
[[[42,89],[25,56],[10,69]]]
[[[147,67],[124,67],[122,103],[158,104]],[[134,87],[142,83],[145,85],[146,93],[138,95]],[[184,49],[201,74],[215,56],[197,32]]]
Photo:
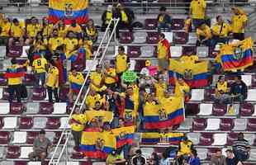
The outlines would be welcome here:
[[[28,157],[31,161],[40,159],[41,162],[44,162],[52,148],[53,146],[50,139],[45,137],[45,130],[40,130],[39,136],[35,139],[33,144],[33,152],[29,153]]]

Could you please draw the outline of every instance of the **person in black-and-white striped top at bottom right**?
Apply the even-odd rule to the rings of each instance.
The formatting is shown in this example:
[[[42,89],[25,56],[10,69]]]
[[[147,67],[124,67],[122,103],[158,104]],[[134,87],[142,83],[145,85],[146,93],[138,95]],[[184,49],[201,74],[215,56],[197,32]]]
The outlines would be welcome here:
[[[235,154],[235,158],[238,158],[239,161],[244,162],[249,158],[249,151],[249,142],[244,139],[244,134],[240,132],[238,134],[238,139],[233,143],[233,152]]]

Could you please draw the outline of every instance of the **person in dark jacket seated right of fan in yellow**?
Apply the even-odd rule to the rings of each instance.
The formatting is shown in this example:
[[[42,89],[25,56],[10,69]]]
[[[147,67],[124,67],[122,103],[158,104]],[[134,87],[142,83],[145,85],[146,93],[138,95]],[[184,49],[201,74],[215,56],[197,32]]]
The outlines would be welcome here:
[[[247,98],[247,92],[248,89],[242,77],[236,76],[235,82],[233,82],[230,87],[231,97],[233,97],[235,101],[244,101]]]

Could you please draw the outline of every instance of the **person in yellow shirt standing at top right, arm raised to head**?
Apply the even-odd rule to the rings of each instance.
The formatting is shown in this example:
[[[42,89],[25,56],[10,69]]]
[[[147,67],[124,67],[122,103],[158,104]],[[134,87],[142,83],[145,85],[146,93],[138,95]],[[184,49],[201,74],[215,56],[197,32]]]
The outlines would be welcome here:
[[[244,11],[238,7],[233,7],[234,15],[231,17],[231,27],[235,40],[244,40],[244,28],[248,21],[248,17]]]

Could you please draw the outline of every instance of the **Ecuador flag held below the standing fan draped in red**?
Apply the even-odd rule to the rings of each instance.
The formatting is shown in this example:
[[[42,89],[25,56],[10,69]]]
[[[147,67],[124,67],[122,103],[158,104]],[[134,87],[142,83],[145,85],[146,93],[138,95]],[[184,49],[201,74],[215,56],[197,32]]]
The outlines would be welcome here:
[[[208,61],[199,63],[180,62],[175,59],[169,60],[169,82],[175,84],[173,73],[178,78],[184,78],[190,87],[205,87],[208,85]]]

